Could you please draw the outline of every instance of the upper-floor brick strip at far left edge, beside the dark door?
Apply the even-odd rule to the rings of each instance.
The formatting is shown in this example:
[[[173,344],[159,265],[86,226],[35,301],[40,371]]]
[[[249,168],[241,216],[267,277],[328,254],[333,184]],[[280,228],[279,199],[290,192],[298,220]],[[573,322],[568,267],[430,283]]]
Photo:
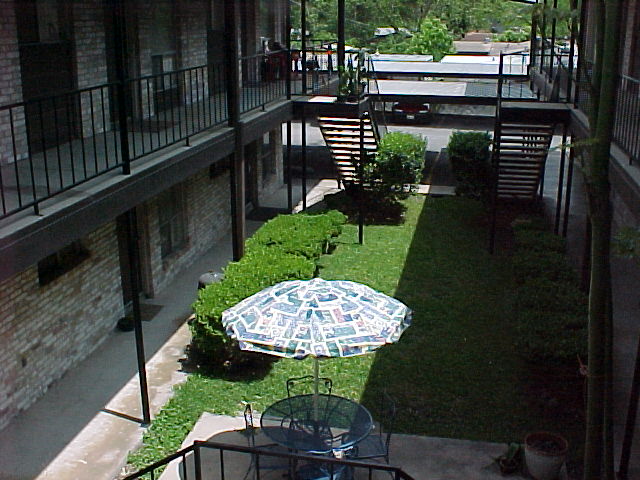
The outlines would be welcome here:
[[[14,0],[0,0],[0,106],[22,101],[22,81],[20,78],[20,51]],[[22,108],[0,112],[0,164],[15,160],[11,138],[11,120],[14,124],[16,155],[18,159],[27,155],[25,119]]]

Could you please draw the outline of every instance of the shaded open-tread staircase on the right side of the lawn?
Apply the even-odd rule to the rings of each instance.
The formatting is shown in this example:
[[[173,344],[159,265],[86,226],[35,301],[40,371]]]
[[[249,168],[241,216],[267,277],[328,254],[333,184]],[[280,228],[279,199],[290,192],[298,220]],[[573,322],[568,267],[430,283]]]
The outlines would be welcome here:
[[[553,125],[501,122],[496,125],[493,165],[497,200],[534,200],[544,176]]]

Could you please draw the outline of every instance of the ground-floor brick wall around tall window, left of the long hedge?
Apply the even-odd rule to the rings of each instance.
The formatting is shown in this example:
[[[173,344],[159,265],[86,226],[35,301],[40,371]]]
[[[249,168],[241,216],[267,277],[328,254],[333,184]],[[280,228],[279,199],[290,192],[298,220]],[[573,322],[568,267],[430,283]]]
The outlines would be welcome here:
[[[231,228],[229,172],[209,178],[209,169],[200,171],[183,183],[188,232],[187,245],[162,258],[157,199],[147,204],[148,256],[153,291],[166,286],[181,269],[210,249]],[[206,265],[203,265],[203,273]],[[197,280],[197,279],[196,279]]]

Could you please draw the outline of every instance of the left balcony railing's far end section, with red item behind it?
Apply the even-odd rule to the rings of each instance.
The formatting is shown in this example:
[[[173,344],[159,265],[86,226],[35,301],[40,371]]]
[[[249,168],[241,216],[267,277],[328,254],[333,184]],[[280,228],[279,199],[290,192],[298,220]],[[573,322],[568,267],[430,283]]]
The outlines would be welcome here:
[[[264,108],[287,93],[286,70],[290,68],[286,50],[260,53],[240,59],[242,113]]]

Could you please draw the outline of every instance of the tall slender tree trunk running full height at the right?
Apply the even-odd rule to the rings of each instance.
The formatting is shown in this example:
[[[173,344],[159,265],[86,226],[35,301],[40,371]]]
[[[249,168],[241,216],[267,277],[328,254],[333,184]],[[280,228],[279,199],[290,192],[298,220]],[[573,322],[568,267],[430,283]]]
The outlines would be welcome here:
[[[611,204],[609,199],[609,150],[615,113],[615,93],[618,80],[618,15],[617,0],[601,3],[604,31],[599,35],[601,48],[597,54],[594,84],[599,88],[590,128],[594,140],[586,158],[587,192],[591,216],[591,276],[589,291],[589,377],[587,387],[587,426],[585,438],[584,478],[613,478],[611,467],[604,471],[605,432],[611,421],[607,414],[607,383],[611,374],[612,324],[610,321],[610,247]],[[608,436],[608,435],[607,435]],[[607,445],[606,448],[609,448]],[[607,455],[608,457],[608,455]],[[607,462],[609,463],[609,462]],[[604,474],[604,476],[603,476]]]

